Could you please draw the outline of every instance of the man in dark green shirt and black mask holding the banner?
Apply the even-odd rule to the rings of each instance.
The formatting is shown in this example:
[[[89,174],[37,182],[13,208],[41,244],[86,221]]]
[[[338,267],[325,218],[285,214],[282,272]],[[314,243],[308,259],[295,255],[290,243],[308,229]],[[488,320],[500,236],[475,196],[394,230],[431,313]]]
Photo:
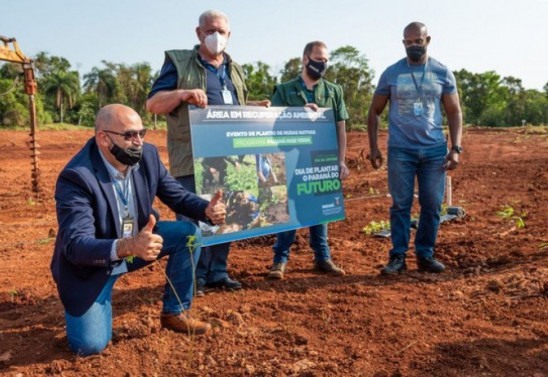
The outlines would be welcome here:
[[[342,88],[323,79],[327,70],[329,54],[327,46],[320,41],[308,43],[303,52],[302,72],[299,77],[281,83],[274,89],[272,106],[305,106],[313,110],[320,107],[332,108],[337,122],[337,139],[339,144],[339,178],[348,177],[349,170],[344,163],[346,154],[346,124],[348,113],[344,104]],[[331,260],[327,244],[327,224],[314,225],[310,230],[310,247],[314,250],[314,269],[331,275],[344,275],[345,272]],[[274,263],[269,279],[283,279],[289,248],[295,241],[296,230],[277,234],[274,244]]]

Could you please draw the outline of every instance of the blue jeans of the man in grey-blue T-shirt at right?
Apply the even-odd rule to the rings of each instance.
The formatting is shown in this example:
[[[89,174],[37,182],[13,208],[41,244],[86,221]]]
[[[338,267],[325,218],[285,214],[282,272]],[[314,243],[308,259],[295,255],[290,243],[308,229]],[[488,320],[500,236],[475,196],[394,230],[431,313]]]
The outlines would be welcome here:
[[[392,196],[390,256],[402,255],[409,248],[411,207],[415,177],[419,186],[420,217],[415,235],[418,258],[434,255],[445,190],[447,145],[428,148],[388,148],[388,188]]]

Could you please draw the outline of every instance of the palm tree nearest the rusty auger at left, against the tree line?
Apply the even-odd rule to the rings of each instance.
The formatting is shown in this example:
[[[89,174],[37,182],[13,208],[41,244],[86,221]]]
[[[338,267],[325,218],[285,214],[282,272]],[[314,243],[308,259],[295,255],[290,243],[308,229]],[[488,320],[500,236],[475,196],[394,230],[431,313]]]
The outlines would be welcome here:
[[[80,94],[80,76],[77,71],[55,71],[44,78],[44,92],[55,96],[55,107],[59,109],[61,123],[64,120],[64,106],[72,108]]]

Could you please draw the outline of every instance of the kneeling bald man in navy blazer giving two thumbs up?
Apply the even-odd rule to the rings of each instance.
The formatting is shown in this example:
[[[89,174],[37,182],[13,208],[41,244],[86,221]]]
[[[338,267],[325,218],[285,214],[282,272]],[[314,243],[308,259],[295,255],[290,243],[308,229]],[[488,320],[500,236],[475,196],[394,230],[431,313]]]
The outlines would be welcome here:
[[[59,231],[51,261],[65,308],[67,339],[80,355],[101,352],[112,337],[112,288],[125,273],[169,255],[163,327],[205,334],[211,325],[188,315],[201,234],[190,222],[157,221],[158,197],[187,217],[222,224],[221,192],[209,202],[183,188],[133,109],[119,104],[97,113],[95,136],[61,171],[55,187]],[[175,291],[174,291],[175,290]]]

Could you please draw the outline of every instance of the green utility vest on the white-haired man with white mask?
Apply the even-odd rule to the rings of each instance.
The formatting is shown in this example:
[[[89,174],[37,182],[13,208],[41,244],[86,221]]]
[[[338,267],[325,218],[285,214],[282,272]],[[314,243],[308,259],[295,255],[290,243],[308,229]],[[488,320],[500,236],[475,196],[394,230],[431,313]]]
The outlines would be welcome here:
[[[177,89],[202,89],[207,91],[206,68],[198,60],[198,47],[193,50],[166,51],[166,59],[170,59],[177,68]],[[240,105],[247,103],[247,88],[245,86],[242,68],[232,61],[225,53],[228,61],[228,75],[236,89],[236,97]],[[188,103],[181,102],[167,118],[167,151],[169,156],[169,171],[174,177],[194,174],[192,160],[192,145],[190,142],[190,121]]]

